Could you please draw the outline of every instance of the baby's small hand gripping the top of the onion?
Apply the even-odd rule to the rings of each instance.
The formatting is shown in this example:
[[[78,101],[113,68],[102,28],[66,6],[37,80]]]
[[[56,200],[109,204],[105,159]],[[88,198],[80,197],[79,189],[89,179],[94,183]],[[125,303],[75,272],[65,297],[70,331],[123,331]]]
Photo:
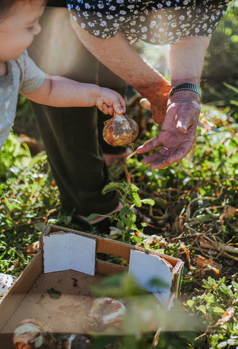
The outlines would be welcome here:
[[[125,100],[123,100],[122,96],[116,91],[105,87],[100,88],[95,105],[104,114],[111,116],[113,116],[114,111],[116,111],[116,114],[125,114],[126,111]]]

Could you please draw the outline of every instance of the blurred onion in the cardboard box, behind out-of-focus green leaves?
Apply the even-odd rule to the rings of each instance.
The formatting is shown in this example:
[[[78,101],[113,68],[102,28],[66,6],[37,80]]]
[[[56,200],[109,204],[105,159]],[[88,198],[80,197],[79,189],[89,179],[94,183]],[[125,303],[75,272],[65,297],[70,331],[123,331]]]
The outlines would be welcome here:
[[[95,320],[97,328],[120,327],[126,314],[126,307],[122,302],[110,297],[97,298],[91,304],[88,318]]]

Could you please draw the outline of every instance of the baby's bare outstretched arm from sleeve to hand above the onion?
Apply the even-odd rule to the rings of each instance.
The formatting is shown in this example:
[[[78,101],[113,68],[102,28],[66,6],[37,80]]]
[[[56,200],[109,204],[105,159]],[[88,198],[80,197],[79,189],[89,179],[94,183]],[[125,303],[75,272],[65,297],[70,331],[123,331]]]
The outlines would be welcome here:
[[[109,88],[94,84],[83,84],[65,77],[50,77],[30,93],[23,94],[29,100],[51,107],[93,107],[97,106],[104,114],[125,114],[125,100]]]

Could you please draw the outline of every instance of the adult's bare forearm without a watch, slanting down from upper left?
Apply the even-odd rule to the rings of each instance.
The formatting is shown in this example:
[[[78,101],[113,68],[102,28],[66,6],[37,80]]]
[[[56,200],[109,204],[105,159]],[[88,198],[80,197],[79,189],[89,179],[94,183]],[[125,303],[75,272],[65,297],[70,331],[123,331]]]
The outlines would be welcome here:
[[[166,114],[170,83],[129,45],[118,32],[109,39],[95,38],[71,20],[79,40],[99,61],[151,103],[154,120],[160,125]]]

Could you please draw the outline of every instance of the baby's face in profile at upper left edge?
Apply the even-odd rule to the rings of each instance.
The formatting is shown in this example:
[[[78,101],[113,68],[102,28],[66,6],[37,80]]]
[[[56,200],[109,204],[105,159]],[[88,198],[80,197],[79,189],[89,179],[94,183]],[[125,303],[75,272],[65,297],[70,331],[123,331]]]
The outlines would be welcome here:
[[[19,59],[24,49],[40,33],[39,19],[44,1],[17,1],[0,22],[0,62]]]

